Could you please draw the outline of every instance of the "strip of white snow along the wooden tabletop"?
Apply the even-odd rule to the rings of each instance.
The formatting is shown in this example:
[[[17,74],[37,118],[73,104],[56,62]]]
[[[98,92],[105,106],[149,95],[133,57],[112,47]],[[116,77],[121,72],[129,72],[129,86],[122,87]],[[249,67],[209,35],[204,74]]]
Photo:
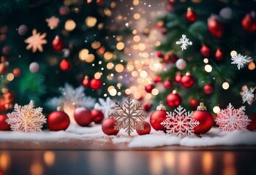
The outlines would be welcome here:
[[[219,131],[219,128],[211,128],[202,137],[186,136],[182,139],[165,134],[162,131],[154,131],[151,134],[138,136],[133,132],[129,137],[122,129],[117,136],[106,136],[101,125],[91,127],[80,127],[70,125],[67,131],[41,131],[37,133],[23,133],[15,131],[0,131],[0,142],[4,141],[60,141],[63,142],[81,139],[91,141],[112,141],[113,144],[127,144],[127,147],[162,147],[168,145],[181,145],[187,147],[208,147],[208,146],[232,146],[232,145],[256,145],[256,131]]]

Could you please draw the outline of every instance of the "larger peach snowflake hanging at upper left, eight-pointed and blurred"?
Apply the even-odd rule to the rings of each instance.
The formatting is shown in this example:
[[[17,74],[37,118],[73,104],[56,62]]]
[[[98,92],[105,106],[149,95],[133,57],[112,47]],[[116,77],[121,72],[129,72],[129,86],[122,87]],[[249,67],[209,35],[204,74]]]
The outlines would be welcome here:
[[[25,39],[25,42],[29,44],[26,47],[26,50],[32,49],[32,52],[37,52],[37,50],[42,52],[43,51],[42,44],[47,43],[45,36],[46,36],[46,33],[40,35],[40,33],[37,33],[37,29],[34,29],[32,31],[32,36],[29,36],[29,38]]]

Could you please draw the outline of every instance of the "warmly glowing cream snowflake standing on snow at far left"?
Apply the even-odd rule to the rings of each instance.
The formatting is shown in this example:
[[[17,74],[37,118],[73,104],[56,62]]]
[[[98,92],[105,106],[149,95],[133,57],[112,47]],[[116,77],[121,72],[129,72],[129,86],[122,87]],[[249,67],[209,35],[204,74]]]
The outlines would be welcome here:
[[[12,113],[7,114],[6,122],[11,125],[12,131],[38,132],[42,125],[46,123],[46,118],[42,114],[42,108],[34,108],[34,102],[30,101],[25,106],[15,104]]]

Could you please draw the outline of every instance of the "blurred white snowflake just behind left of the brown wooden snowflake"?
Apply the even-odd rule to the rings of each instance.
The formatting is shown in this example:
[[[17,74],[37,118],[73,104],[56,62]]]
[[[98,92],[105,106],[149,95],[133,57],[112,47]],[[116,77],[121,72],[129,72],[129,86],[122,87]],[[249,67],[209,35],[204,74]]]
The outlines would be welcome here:
[[[104,100],[99,98],[99,103],[94,105],[94,109],[100,110],[104,113],[105,118],[107,118],[111,113],[115,112],[116,103],[111,100],[109,97]]]

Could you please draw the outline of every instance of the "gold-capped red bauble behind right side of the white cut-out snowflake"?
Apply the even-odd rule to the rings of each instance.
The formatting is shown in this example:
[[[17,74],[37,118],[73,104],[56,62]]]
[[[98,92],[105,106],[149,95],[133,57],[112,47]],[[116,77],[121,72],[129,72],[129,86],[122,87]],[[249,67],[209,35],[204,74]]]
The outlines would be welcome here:
[[[194,128],[195,134],[207,133],[214,125],[214,118],[210,112],[206,111],[203,100],[200,102],[200,106],[197,106],[197,110],[193,112],[192,117],[199,122],[199,125]]]

